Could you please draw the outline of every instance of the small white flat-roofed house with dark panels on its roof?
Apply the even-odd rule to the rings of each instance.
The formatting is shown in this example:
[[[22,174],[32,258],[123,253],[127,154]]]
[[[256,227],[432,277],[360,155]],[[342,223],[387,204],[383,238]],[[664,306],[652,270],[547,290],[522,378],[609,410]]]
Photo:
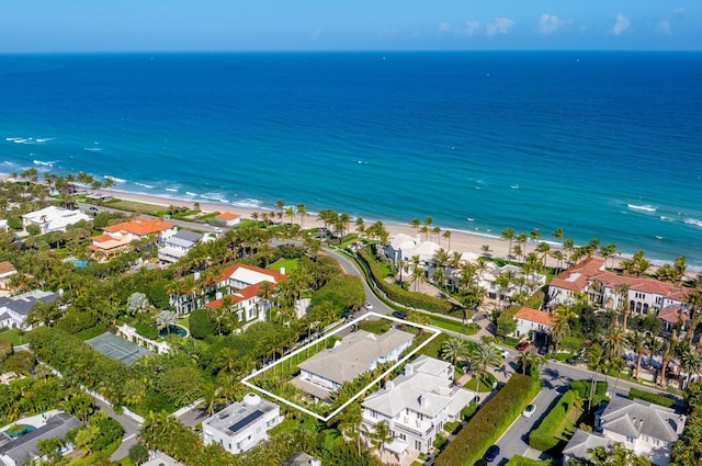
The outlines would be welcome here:
[[[278,405],[247,394],[241,402],[231,404],[202,422],[203,442],[218,444],[236,455],[268,439],[267,432],[283,419]]]

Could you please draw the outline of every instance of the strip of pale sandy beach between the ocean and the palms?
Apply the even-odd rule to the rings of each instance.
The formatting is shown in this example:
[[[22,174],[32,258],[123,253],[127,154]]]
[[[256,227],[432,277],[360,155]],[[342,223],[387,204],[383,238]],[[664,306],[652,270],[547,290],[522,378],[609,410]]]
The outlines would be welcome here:
[[[194,202],[190,202],[190,201],[173,200],[173,198],[159,197],[159,196],[152,196],[147,194],[113,192],[113,191],[110,191],[110,192],[103,191],[102,193],[104,195],[111,195],[122,200],[162,205],[162,206],[178,205],[178,206],[188,206],[189,208],[194,208],[194,204],[195,204]],[[203,213],[233,212],[235,214],[241,215],[242,218],[251,218],[251,214],[253,214],[254,212],[258,212],[258,213],[275,212],[274,206],[261,207],[256,209],[256,208],[240,207],[231,204],[203,203],[203,202],[200,203],[200,208]],[[371,225],[377,219],[364,218],[366,226]],[[290,221],[290,217],[283,217],[283,221]],[[301,223],[299,215],[295,215],[293,221],[295,224],[299,224]],[[324,227],[324,223],[317,217],[317,214],[307,215],[304,219],[304,224],[306,229],[315,228],[315,227]],[[409,220],[407,225],[387,224],[385,221],[383,221],[383,225],[385,225],[385,229],[389,232],[390,238],[397,234],[406,234],[412,237],[417,237],[420,235],[418,229],[412,228],[409,225]],[[442,228],[441,225],[434,225],[434,226]],[[354,228],[355,227],[352,223],[351,229],[354,229]],[[443,238],[442,236],[444,234],[444,229],[442,228],[442,231],[439,234],[439,237],[437,237],[437,235],[432,235],[431,240],[439,243],[441,247],[450,251],[473,252],[475,254],[480,255],[483,254],[483,246],[487,245],[490,247],[491,257],[506,259],[508,255],[508,250],[509,250],[508,240],[488,237],[488,236],[482,236],[482,235],[472,235],[469,232],[456,231],[451,229],[450,231],[451,231],[451,237]],[[426,235],[420,235],[420,239],[423,241],[423,240],[427,240],[428,238]],[[552,242],[553,238],[548,236],[548,238],[544,238],[543,240]],[[516,242],[513,242],[512,246],[514,243]],[[534,241],[530,240],[526,243],[526,252],[531,252],[535,248],[536,248],[536,243]],[[555,250],[555,249],[558,249],[558,247],[552,243],[551,249]],[[619,260],[621,260],[621,258],[615,258],[615,263],[618,263]],[[557,265],[556,260],[551,257],[547,258],[547,264],[550,266]]]

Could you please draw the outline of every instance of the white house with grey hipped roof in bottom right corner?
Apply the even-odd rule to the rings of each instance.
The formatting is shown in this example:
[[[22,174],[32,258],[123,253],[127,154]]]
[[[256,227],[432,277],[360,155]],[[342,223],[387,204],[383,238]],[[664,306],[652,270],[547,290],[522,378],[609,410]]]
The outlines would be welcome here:
[[[672,443],[684,428],[686,417],[673,409],[639,399],[630,400],[614,397],[604,410],[596,416],[595,430],[598,434],[579,434],[570,440],[564,455],[582,455],[578,445],[603,445],[619,442],[637,455],[647,456],[657,466],[668,466]],[[565,456],[564,456],[565,459]]]

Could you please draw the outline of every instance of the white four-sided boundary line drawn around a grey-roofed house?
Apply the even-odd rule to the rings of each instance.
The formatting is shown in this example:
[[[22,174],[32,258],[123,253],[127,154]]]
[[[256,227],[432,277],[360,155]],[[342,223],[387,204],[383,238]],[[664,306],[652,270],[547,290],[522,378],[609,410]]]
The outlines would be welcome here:
[[[343,330],[343,329],[346,329],[346,328],[348,328],[348,327],[354,326],[354,325],[356,325],[358,322],[360,322],[361,320],[365,320],[369,316],[375,316],[375,317],[378,317],[378,318],[381,318],[381,319],[394,320],[394,321],[396,321],[396,322],[399,322],[399,323],[403,323],[403,325],[406,325],[406,326],[411,326],[411,327],[416,327],[416,328],[421,329],[421,330],[427,330],[427,331],[429,331],[429,332],[432,332],[433,334],[432,334],[431,337],[429,337],[429,338],[428,338],[423,343],[421,343],[420,345],[418,345],[417,348],[415,348],[415,349],[414,349],[409,354],[407,354],[405,357],[403,357],[401,360],[397,361],[397,363],[396,363],[396,364],[394,364],[390,368],[388,368],[388,370],[387,370],[387,371],[385,371],[383,374],[381,374],[380,376],[377,376],[373,382],[371,382],[369,385],[366,385],[366,386],[365,386],[361,391],[359,391],[358,394],[355,394],[354,396],[352,396],[351,398],[349,398],[349,399],[347,400],[347,402],[344,402],[344,404],[343,404],[343,405],[341,405],[339,408],[337,408],[336,410],[333,410],[330,414],[328,414],[328,416],[326,416],[326,417],[322,417],[322,416],[320,416],[320,414],[317,414],[316,412],[313,412],[313,411],[308,410],[307,408],[304,408],[304,407],[302,407],[302,406],[299,406],[299,405],[295,405],[294,402],[292,402],[292,401],[290,401],[290,400],[287,400],[287,399],[285,399],[285,398],[279,397],[278,395],[274,395],[274,394],[272,394],[272,393],[270,393],[270,391],[268,391],[268,390],[264,390],[263,388],[261,388],[261,387],[259,387],[259,386],[257,386],[257,385],[253,385],[253,384],[251,384],[251,383],[249,382],[251,378],[253,378],[253,377],[256,377],[256,376],[258,376],[258,375],[260,375],[260,374],[264,373],[265,371],[268,371],[268,370],[270,370],[270,368],[275,367],[278,364],[282,364],[283,362],[285,362],[285,361],[287,361],[288,359],[293,357],[294,355],[296,355],[296,354],[298,354],[298,353],[301,353],[301,352],[305,351],[306,349],[310,348],[312,345],[317,344],[317,343],[319,342],[319,340],[326,340],[327,338],[329,338],[329,337],[331,337],[331,336],[333,336],[333,334],[336,334],[336,333],[340,332],[341,330]],[[281,402],[284,402],[285,405],[290,406],[291,408],[295,408],[295,409],[297,409],[298,411],[302,411],[302,412],[304,412],[304,413],[306,413],[306,414],[313,416],[313,417],[315,417],[315,418],[319,419],[321,422],[327,422],[327,421],[329,421],[331,418],[333,418],[335,416],[337,416],[339,412],[341,412],[342,410],[344,410],[347,406],[349,406],[350,404],[352,404],[353,401],[355,401],[355,400],[356,400],[356,398],[359,398],[361,395],[363,395],[365,391],[367,391],[372,386],[374,386],[375,384],[377,384],[382,378],[384,378],[384,377],[385,377],[386,375],[388,375],[390,372],[395,371],[397,367],[399,367],[400,365],[403,365],[407,360],[409,360],[412,355],[415,355],[415,353],[417,353],[419,350],[421,350],[422,348],[424,348],[427,344],[429,344],[433,339],[435,339],[437,337],[439,337],[441,333],[442,333],[442,332],[441,332],[441,330],[435,329],[435,328],[432,328],[432,327],[423,326],[423,325],[421,325],[421,323],[409,322],[409,321],[407,321],[407,320],[401,320],[401,319],[397,319],[397,318],[392,317],[392,316],[386,316],[386,315],[384,315],[384,314],[377,314],[377,312],[373,312],[373,311],[371,311],[371,312],[366,312],[366,314],[364,314],[364,315],[363,315],[363,316],[361,316],[361,317],[358,317],[356,319],[354,319],[354,320],[352,320],[352,321],[348,322],[348,323],[347,323],[347,325],[344,325],[344,326],[339,327],[339,328],[338,328],[338,329],[336,329],[333,332],[331,332],[331,333],[329,333],[329,334],[326,334],[326,336],[324,336],[322,338],[317,339],[317,340],[315,340],[315,341],[313,341],[313,342],[309,342],[309,343],[305,344],[305,345],[304,345],[304,346],[302,346],[302,348],[298,348],[296,351],[294,351],[294,352],[292,352],[292,353],[290,353],[290,354],[287,354],[287,355],[285,355],[285,356],[281,357],[280,360],[278,360],[274,364],[272,364],[272,365],[270,365],[270,366],[265,366],[265,367],[263,367],[263,368],[260,368],[260,370],[256,371],[253,374],[251,374],[251,375],[249,375],[249,376],[245,377],[244,379],[241,379],[241,383],[242,383],[244,385],[246,385],[247,387],[249,387],[249,388],[252,388],[252,389],[254,389],[254,390],[257,390],[257,391],[260,391],[260,393],[262,393],[262,394],[264,394],[264,395],[267,395],[267,396],[269,396],[269,397],[271,397],[271,398],[273,398],[273,399],[276,399],[276,400],[279,400],[279,401],[281,401]],[[322,350],[322,351],[324,351],[324,350]]]

